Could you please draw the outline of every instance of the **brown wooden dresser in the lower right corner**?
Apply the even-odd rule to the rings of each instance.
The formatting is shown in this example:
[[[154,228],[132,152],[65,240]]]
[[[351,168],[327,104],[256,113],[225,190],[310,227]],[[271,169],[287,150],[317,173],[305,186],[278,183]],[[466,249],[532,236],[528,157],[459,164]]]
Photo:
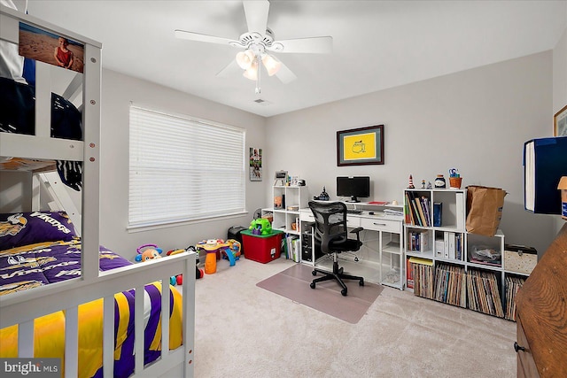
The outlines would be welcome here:
[[[567,377],[567,223],[517,293],[518,377]]]

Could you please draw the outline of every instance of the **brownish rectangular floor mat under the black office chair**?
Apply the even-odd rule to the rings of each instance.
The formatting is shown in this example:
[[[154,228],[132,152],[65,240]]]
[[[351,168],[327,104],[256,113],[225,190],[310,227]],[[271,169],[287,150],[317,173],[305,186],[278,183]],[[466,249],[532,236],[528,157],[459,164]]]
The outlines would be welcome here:
[[[352,324],[361,320],[383,289],[381,285],[370,282],[360,286],[358,281],[353,280],[345,280],[348,288],[346,297],[341,295],[342,288],[334,280],[318,282],[315,289],[311,289],[309,283],[315,278],[312,271],[311,266],[295,264],[258,282],[256,286]],[[317,274],[317,277],[322,277],[322,274]]]

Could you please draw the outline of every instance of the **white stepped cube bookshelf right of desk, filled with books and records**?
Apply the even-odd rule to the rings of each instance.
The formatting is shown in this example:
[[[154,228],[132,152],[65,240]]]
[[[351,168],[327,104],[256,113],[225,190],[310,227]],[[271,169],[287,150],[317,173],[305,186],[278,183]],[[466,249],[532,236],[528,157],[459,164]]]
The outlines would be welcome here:
[[[419,297],[515,320],[529,274],[505,266],[504,234],[470,234],[466,189],[404,190],[406,287]]]

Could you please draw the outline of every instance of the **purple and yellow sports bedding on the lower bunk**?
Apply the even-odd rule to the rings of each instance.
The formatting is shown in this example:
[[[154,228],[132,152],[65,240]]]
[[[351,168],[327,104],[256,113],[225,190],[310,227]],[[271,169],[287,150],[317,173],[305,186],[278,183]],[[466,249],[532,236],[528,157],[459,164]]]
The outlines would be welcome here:
[[[131,263],[104,247],[99,248],[100,270]],[[65,212],[0,214],[0,296],[61,282],[81,275],[81,241]],[[182,298],[170,290],[169,344],[182,344]],[[159,357],[161,286],[145,286],[144,364]],[[114,296],[114,375],[134,372],[135,290]],[[80,305],[79,374],[102,377],[103,300]],[[63,359],[65,313],[55,312],[35,320],[35,357]],[[0,358],[18,357],[18,326],[0,329]]]

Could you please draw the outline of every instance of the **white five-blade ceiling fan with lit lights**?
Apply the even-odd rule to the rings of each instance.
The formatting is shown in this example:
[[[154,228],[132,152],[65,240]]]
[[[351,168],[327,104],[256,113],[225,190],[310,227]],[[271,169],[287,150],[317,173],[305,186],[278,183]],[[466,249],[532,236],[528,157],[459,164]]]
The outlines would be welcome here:
[[[260,94],[260,67],[263,65],[268,75],[276,75],[283,83],[297,79],[297,76],[283,63],[270,54],[277,53],[330,53],[333,39],[331,36],[307,37],[276,41],[274,33],[268,28],[269,2],[244,1],[245,17],[248,31],[237,40],[202,35],[185,30],[175,30],[175,36],[181,39],[198,42],[227,44],[242,49],[235,60],[223,68],[217,76],[225,76],[238,69],[244,70],[247,79],[256,81],[256,94]]]

